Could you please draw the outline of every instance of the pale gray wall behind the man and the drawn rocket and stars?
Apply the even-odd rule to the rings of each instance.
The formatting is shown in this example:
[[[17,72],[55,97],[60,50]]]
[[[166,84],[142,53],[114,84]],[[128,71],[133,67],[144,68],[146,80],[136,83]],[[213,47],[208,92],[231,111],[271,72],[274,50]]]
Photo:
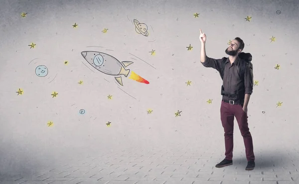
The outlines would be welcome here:
[[[245,42],[243,51],[253,55],[256,85],[248,121],[255,149],[299,146],[297,0],[0,4],[1,175],[137,148],[205,150],[221,142],[223,152],[222,80],[200,63],[200,28],[209,57],[227,56],[227,43],[236,36]],[[147,25],[148,36],[136,31],[134,19]],[[34,48],[28,46],[32,43]],[[85,50],[134,62],[126,67],[128,77],[122,75],[123,86],[115,76],[93,68],[81,55]],[[35,72],[40,65],[47,68],[44,77]],[[149,84],[130,79],[132,71]],[[177,111],[181,116],[175,116]],[[244,149],[236,126],[235,145]]]

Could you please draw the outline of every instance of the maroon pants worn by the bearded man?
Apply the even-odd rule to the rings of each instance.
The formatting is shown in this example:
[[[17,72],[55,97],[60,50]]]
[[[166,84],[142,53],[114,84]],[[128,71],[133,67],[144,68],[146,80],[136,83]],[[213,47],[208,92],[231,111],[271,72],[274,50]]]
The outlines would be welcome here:
[[[234,133],[234,117],[236,117],[241,135],[244,139],[245,152],[247,161],[254,161],[253,153],[253,143],[252,137],[249,132],[248,123],[247,123],[247,113],[243,111],[243,105],[233,105],[221,101],[221,122],[222,127],[224,128],[224,140],[225,140],[225,159],[233,159],[233,133]]]

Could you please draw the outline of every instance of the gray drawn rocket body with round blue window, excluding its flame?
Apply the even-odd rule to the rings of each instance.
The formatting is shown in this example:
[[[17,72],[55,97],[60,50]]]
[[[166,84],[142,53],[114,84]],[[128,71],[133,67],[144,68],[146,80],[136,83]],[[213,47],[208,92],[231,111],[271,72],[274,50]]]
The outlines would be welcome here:
[[[133,63],[132,61],[120,62],[115,57],[103,52],[83,51],[81,54],[91,66],[107,75],[125,75],[125,77],[127,77],[130,73],[130,69],[125,69],[125,67]],[[114,78],[123,86],[121,76]]]

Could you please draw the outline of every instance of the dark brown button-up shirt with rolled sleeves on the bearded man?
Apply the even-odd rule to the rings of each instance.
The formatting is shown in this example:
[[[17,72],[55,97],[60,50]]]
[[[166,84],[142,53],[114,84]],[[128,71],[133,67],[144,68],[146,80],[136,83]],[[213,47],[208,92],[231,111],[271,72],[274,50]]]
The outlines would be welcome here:
[[[214,58],[206,57],[206,60],[205,60],[205,62],[202,63],[202,65],[207,68],[214,68],[220,73],[220,62],[221,62],[221,59],[214,59]],[[245,88],[245,94],[246,93],[252,94],[252,92],[253,92],[253,77],[252,77],[252,75],[253,74],[250,72],[249,65],[246,65],[246,69],[245,69],[245,73],[244,73],[244,83],[243,83],[239,76],[240,62],[245,62],[245,61],[242,61],[239,57],[237,57],[237,59],[232,64],[230,64],[229,58],[226,59],[224,75],[223,75],[224,91],[231,93],[231,94],[237,94],[240,89]],[[222,95],[222,99],[237,100],[237,97],[229,98],[227,96]]]

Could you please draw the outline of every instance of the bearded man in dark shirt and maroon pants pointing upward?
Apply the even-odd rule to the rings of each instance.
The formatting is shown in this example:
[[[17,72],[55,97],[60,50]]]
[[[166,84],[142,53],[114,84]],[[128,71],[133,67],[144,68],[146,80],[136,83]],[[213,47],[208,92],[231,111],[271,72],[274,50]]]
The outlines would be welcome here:
[[[200,62],[204,67],[214,68],[220,73],[221,59],[207,57],[205,52],[206,35],[201,32],[201,29],[199,37],[201,41]],[[240,62],[245,61],[241,60],[238,54],[243,48],[243,40],[236,37],[225,50],[225,53],[229,56],[225,61],[220,107],[221,122],[224,128],[225,159],[217,164],[216,168],[233,165],[233,132],[234,117],[236,117],[245,144],[246,158],[248,161],[246,170],[251,171],[255,167],[255,156],[253,153],[252,137],[247,123],[247,106],[253,91],[253,74],[247,64],[244,73],[244,82],[242,82],[239,76]]]

